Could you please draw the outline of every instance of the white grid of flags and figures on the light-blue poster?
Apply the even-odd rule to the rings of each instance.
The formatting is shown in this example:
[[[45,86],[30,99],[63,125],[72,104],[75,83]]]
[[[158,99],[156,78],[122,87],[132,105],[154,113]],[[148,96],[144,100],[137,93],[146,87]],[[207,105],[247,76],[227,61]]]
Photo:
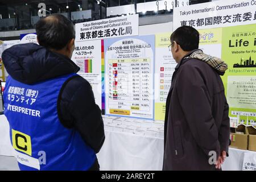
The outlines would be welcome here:
[[[152,117],[151,59],[108,61],[109,114]]]

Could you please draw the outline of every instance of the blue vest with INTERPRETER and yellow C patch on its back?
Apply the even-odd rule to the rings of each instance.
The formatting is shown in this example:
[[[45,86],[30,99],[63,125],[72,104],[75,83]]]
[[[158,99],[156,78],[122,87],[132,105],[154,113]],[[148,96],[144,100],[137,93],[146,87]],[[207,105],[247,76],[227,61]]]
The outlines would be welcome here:
[[[87,170],[96,160],[92,148],[58,117],[61,87],[75,73],[23,84],[7,78],[3,100],[10,139],[20,170]]]

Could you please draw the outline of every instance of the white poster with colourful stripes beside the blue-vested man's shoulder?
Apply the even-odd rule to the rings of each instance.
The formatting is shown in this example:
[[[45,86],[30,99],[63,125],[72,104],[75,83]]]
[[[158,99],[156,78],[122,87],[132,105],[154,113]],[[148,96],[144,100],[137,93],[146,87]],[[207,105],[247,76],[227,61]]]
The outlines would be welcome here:
[[[75,42],[72,60],[80,67],[78,74],[92,86],[95,102],[101,108],[101,40]]]

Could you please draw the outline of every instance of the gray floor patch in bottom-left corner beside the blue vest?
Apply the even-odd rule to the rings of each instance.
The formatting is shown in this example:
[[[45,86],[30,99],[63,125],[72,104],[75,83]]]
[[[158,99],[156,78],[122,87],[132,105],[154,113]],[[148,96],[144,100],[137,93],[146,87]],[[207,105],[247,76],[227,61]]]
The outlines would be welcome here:
[[[0,171],[19,171],[16,158],[0,155]]]

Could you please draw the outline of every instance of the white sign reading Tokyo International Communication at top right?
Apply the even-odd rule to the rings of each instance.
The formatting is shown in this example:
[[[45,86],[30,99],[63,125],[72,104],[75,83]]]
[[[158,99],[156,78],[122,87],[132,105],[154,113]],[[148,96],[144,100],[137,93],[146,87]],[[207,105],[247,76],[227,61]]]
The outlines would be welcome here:
[[[180,26],[197,29],[240,26],[256,23],[255,0],[225,0],[174,9],[174,30]]]

